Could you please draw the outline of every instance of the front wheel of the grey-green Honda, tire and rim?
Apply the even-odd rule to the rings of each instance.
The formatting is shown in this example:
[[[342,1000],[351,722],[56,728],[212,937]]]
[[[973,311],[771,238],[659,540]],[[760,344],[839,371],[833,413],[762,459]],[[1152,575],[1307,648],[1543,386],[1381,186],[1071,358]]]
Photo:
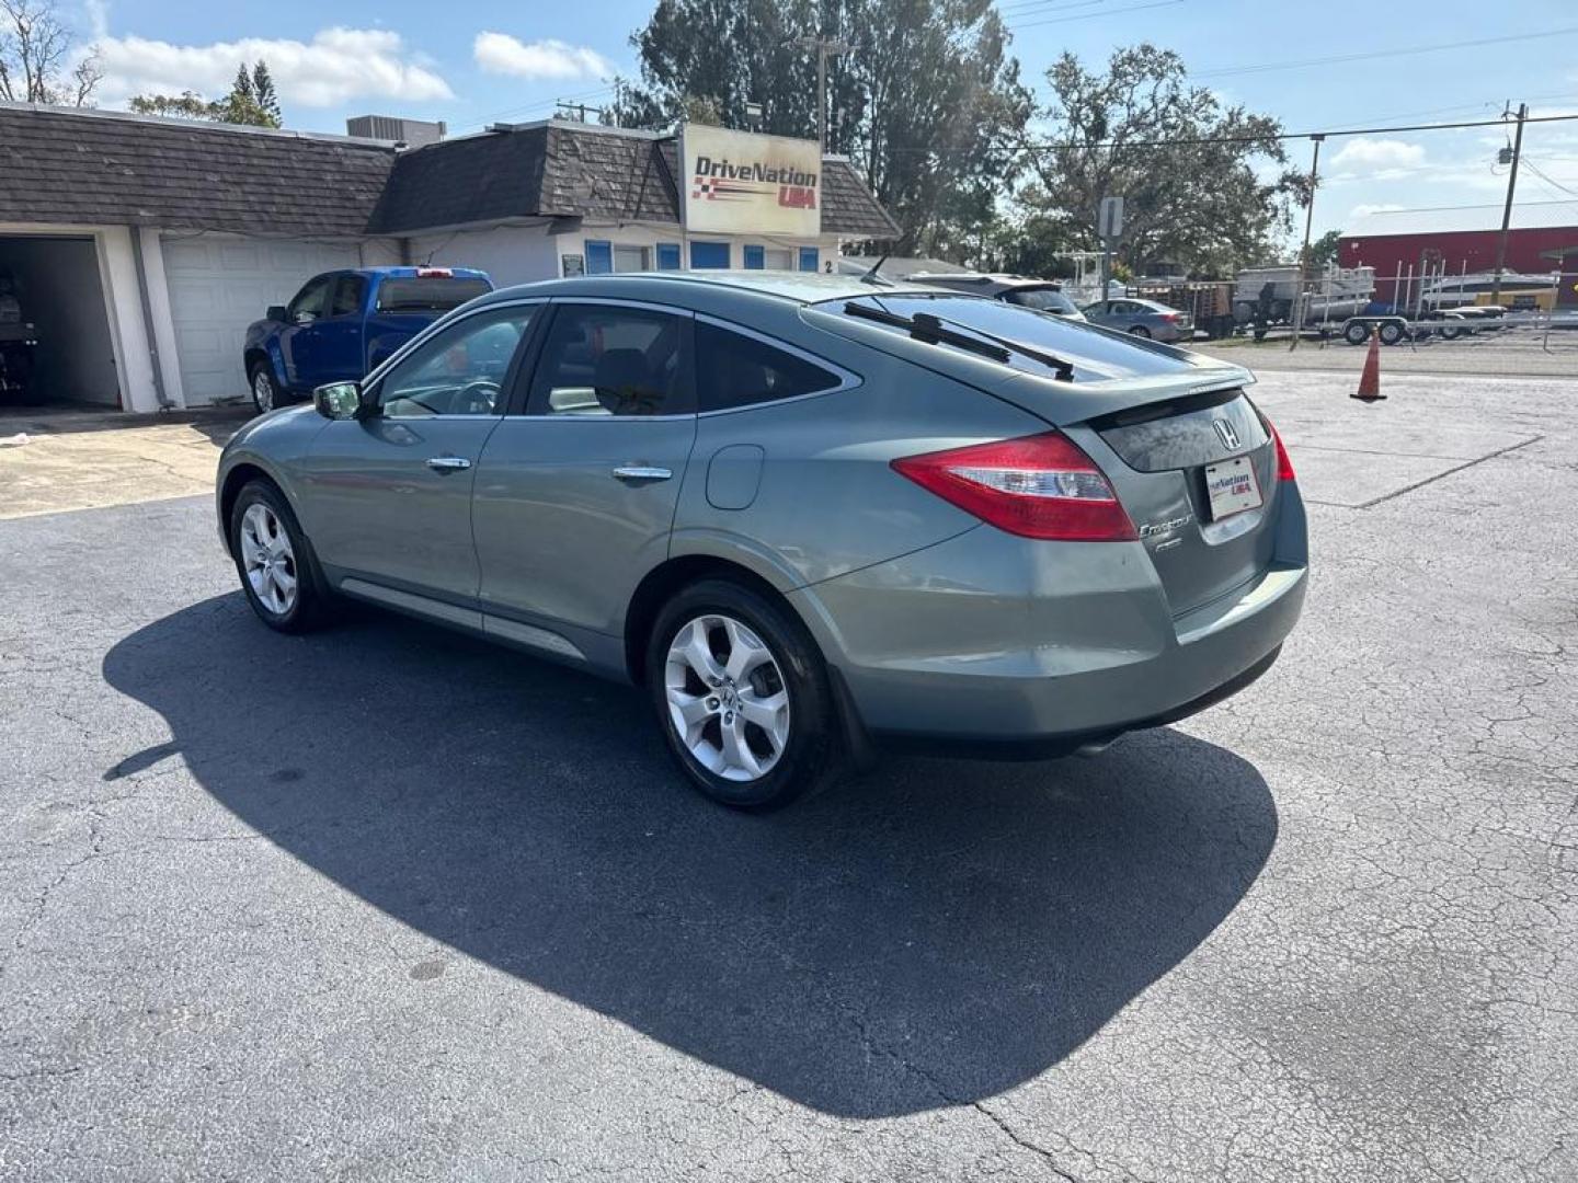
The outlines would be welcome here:
[[[333,593],[301,524],[270,481],[248,481],[230,506],[230,555],[252,612],[278,633],[328,623]]]

